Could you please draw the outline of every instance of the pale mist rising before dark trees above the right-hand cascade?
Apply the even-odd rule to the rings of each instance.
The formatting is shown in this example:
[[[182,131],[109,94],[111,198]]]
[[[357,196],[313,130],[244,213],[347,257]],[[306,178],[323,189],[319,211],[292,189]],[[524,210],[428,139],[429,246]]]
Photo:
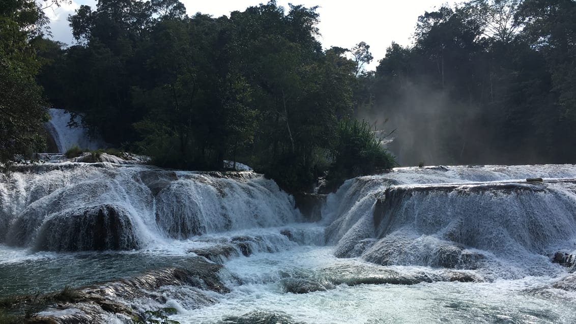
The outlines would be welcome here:
[[[498,109],[454,100],[449,90],[426,82],[405,82],[393,98],[386,89],[379,96],[385,103],[358,117],[383,134],[392,132],[387,147],[400,166],[547,162],[530,146],[529,137],[518,141],[506,134],[506,116]],[[503,139],[505,144],[497,143]]]

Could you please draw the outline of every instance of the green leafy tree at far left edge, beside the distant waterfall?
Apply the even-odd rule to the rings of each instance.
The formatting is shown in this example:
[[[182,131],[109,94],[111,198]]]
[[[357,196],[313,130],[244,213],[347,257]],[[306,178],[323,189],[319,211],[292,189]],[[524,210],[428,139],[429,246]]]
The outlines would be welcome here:
[[[33,0],[0,4],[0,163],[41,147],[48,120],[35,77],[40,64],[32,40],[48,20]]]

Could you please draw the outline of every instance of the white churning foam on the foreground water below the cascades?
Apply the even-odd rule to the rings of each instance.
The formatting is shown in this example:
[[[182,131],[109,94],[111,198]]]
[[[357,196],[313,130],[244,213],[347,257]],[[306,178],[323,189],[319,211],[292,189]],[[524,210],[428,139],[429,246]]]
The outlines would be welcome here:
[[[172,317],[181,323],[219,323],[250,312],[286,315],[305,323],[570,323],[574,293],[545,295],[549,277],[498,280],[492,283],[421,283],[416,285],[338,285],[327,291],[286,293],[282,273],[327,266],[358,266],[361,261],[337,259],[329,248],[298,248],[290,252],[232,260],[228,269],[242,284],[218,303],[185,310]],[[392,267],[418,273],[424,268]],[[233,281],[230,284],[234,284]],[[531,292],[531,289],[540,289]]]

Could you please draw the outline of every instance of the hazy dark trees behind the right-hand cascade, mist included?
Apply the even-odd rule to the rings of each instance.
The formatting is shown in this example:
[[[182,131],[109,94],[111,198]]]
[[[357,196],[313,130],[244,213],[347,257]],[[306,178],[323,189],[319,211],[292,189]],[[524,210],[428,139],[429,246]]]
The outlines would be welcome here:
[[[472,0],[423,14],[414,46],[393,43],[362,79],[371,104],[358,116],[390,117],[406,165],[573,163],[575,3]]]

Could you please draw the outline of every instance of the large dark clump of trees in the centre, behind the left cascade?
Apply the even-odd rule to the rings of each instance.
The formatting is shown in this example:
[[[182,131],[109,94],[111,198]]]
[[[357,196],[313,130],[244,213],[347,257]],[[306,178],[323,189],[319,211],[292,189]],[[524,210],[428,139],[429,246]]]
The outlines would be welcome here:
[[[158,165],[222,169],[238,158],[282,188],[308,188],[331,164],[373,59],[366,43],[355,60],[323,51],[316,9],[269,1],[213,18],[188,17],[175,0],[81,6],[69,18],[77,44],[45,44],[66,79],[50,98]],[[57,79],[51,66],[42,82]]]

